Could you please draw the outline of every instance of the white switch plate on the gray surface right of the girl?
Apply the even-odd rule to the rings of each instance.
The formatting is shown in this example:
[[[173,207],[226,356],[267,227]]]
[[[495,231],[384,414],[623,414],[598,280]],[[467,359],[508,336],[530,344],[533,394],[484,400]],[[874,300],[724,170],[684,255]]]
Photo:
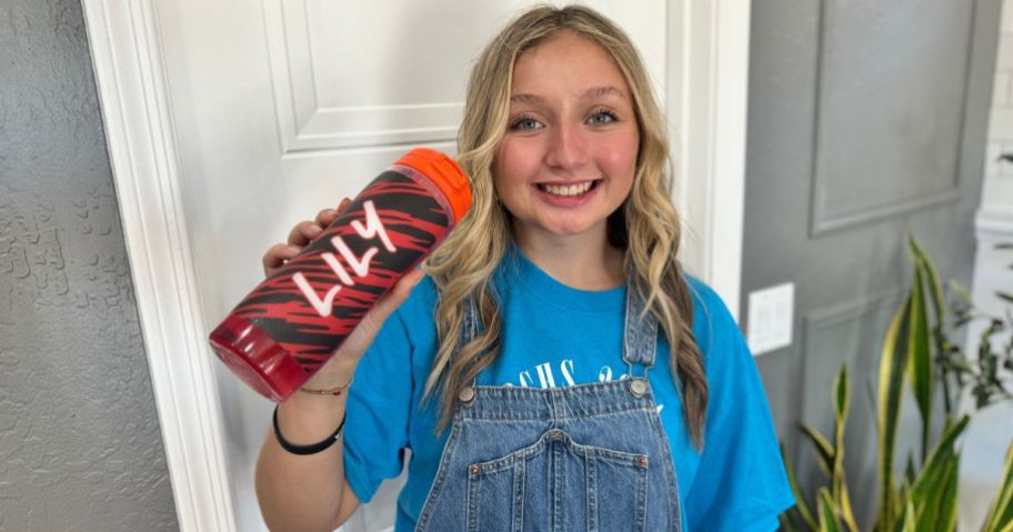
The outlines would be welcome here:
[[[750,292],[746,341],[754,357],[791,345],[794,307],[791,282]]]

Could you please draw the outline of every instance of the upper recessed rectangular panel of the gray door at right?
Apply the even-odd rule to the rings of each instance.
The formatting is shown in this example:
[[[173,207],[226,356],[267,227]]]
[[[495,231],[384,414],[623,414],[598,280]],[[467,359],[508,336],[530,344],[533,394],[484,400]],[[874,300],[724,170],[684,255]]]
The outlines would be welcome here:
[[[972,2],[823,4],[813,233],[960,195],[973,13]]]

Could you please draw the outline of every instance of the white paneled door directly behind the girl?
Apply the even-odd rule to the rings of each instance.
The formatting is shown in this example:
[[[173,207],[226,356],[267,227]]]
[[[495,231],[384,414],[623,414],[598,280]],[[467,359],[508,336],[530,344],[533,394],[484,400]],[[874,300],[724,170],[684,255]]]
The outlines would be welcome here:
[[[411,147],[452,152],[472,61],[528,3],[153,2],[204,331],[297,221],[354,197]],[[589,3],[632,36],[664,94],[664,0]],[[262,530],[252,474],[272,404],[215,368],[235,524]],[[391,526],[398,484],[345,529]]]

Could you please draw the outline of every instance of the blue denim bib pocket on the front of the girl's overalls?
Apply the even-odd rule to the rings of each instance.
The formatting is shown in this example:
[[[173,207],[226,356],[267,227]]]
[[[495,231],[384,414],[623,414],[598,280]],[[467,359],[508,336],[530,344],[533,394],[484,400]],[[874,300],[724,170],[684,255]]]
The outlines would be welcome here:
[[[648,466],[645,454],[548,431],[531,445],[468,466],[468,530],[643,531]]]

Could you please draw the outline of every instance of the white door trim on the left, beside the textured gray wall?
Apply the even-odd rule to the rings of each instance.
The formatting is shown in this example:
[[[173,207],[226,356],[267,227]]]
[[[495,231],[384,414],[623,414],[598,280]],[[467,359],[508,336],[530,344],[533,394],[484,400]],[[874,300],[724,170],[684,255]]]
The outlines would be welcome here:
[[[235,530],[150,0],[83,0],[109,160],[182,531]]]

